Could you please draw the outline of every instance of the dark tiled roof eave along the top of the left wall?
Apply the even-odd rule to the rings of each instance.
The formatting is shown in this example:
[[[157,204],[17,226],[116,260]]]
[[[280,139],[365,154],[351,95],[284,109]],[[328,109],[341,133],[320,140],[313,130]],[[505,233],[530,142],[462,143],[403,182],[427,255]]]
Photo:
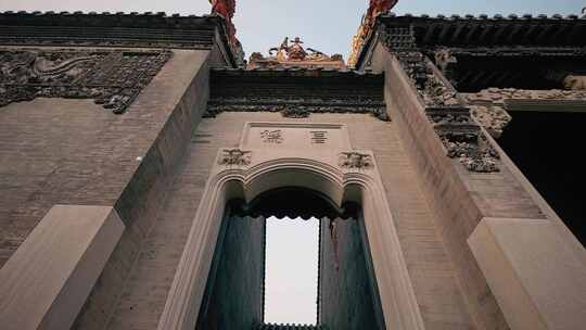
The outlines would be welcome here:
[[[165,12],[0,12],[0,45],[212,49],[237,65],[218,15]]]

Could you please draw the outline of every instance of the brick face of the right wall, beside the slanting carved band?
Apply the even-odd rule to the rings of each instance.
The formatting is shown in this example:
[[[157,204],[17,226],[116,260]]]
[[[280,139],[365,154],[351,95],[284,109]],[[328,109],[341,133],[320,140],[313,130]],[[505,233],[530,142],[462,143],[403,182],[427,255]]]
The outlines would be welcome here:
[[[374,63],[385,67],[387,110],[416,166],[435,226],[456,266],[469,310],[480,329],[508,329],[486,284],[467,239],[483,217],[545,218],[536,202],[509,168],[500,173],[473,174],[458,160],[445,156],[441,141],[417,101],[398,63],[380,46]]]

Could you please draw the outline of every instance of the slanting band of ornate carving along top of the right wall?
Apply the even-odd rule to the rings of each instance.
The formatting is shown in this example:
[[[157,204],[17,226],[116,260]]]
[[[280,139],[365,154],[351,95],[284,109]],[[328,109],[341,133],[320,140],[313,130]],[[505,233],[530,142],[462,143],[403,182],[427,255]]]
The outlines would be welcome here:
[[[407,31],[410,36],[406,35]],[[403,69],[411,79],[425,106],[425,115],[433,124],[447,156],[458,158],[471,172],[499,172],[498,153],[474,122],[469,105],[458,96],[456,89],[433,69],[432,62],[417,49],[412,28],[386,29],[384,34],[383,40],[387,40],[387,49],[397,56]],[[442,66],[444,69],[455,62],[449,50],[436,52],[435,56],[441,66],[444,64],[445,67]]]

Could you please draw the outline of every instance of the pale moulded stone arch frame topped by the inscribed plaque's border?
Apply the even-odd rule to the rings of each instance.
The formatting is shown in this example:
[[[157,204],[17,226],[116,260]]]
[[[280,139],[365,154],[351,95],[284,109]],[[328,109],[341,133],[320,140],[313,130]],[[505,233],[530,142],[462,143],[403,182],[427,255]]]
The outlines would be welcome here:
[[[194,329],[227,202],[232,199],[250,202],[263,192],[282,187],[319,191],[339,207],[344,202],[361,205],[387,329],[424,329],[374,155],[344,143],[348,140],[343,125],[331,128],[334,125],[267,124],[271,128],[285,125],[286,129],[328,125],[341,130],[342,143],[317,152],[246,144],[254,125],[262,124],[246,125],[240,148],[218,152],[158,329]]]

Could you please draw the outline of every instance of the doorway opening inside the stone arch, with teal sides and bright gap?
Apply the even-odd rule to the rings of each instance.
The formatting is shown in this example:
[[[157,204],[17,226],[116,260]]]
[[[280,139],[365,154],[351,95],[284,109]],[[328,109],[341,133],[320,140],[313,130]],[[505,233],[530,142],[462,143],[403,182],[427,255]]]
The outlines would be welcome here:
[[[298,187],[228,203],[196,329],[268,323],[385,329],[360,205]]]

